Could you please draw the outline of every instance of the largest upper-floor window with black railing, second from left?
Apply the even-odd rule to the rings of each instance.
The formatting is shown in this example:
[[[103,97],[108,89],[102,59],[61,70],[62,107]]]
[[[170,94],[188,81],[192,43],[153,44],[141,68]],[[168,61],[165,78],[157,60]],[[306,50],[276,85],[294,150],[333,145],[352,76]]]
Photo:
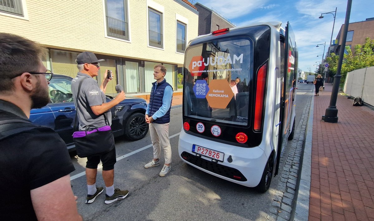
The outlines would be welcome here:
[[[127,0],[106,0],[106,10],[107,35],[129,40]]]

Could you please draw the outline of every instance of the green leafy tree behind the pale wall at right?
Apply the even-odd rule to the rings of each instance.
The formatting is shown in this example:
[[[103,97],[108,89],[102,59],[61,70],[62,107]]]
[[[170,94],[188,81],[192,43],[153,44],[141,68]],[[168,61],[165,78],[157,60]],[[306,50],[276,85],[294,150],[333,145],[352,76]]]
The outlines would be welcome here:
[[[352,54],[352,50],[349,46],[346,46],[346,54],[344,54],[343,64],[341,65],[341,80],[340,87],[343,87],[346,75],[348,72],[374,66],[374,39],[367,37],[365,44],[357,44],[355,46],[355,55]],[[330,57],[327,58],[329,63],[328,74],[330,77],[334,76],[337,71],[339,56],[335,53],[331,53]]]

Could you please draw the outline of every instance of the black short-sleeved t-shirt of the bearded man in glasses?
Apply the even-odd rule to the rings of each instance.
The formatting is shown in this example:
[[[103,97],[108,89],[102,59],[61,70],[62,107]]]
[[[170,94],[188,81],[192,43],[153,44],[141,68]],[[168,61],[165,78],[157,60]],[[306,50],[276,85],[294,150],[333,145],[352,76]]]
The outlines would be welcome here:
[[[64,141],[50,128],[36,127],[1,140],[0,220],[36,220],[30,190],[74,170]]]

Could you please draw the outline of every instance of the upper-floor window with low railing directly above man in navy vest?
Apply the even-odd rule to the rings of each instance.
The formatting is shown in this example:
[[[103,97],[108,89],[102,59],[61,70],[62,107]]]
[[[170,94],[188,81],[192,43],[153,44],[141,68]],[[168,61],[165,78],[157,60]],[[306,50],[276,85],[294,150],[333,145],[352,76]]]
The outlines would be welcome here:
[[[162,41],[162,13],[148,8],[149,45],[163,47]]]

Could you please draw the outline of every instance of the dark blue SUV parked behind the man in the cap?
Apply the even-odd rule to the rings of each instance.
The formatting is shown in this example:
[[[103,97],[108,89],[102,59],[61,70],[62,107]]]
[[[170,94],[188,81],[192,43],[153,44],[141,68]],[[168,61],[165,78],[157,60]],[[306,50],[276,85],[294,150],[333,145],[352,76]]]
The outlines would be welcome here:
[[[55,130],[65,141],[68,150],[75,149],[73,142],[73,126],[76,109],[71,93],[71,80],[65,75],[54,74],[49,87],[50,102],[40,109],[32,109],[30,120]],[[107,100],[113,97],[107,96]],[[126,98],[111,109],[112,131],[114,137],[126,136],[129,140],[140,140],[148,132],[145,123],[147,102],[142,98]]]

